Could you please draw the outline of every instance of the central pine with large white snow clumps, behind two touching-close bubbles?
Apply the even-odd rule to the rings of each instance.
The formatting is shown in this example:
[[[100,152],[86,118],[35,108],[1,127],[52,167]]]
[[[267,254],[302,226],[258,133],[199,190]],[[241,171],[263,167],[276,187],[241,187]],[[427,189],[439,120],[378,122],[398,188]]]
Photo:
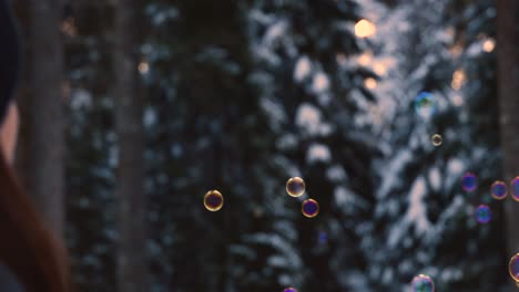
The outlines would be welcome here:
[[[366,265],[358,247],[368,231],[370,166],[378,153],[363,114],[377,76],[356,62],[372,46],[369,39],[354,35],[360,4],[255,0],[245,9],[255,63],[251,81],[278,135],[271,159],[285,177],[262,198],[272,219],[262,231],[244,236],[265,262],[261,271],[244,264],[247,271],[241,277],[250,279],[248,286],[240,288],[275,278],[269,291],[287,285],[299,291],[358,289]],[[285,194],[291,176],[305,179],[304,197]],[[301,215],[307,197],[320,205],[314,219]]]

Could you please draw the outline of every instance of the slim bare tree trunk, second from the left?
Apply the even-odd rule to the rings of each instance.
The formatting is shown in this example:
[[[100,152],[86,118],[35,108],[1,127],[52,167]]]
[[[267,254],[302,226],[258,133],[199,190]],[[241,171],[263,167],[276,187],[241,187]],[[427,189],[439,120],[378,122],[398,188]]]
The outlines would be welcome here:
[[[119,136],[116,182],[119,249],[118,290],[145,292],[147,261],[145,248],[144,133],[143,100],[138,74],[138,1],[119,0],[115,4],[113,49],[115,127]]]

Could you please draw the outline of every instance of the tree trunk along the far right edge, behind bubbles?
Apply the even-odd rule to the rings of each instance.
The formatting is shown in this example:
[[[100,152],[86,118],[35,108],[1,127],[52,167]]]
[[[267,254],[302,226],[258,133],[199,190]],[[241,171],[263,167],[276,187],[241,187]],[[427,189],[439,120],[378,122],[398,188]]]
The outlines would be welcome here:
[[[516,49],[517,0],[497,1],[497,60],[501,147],[505,178],[519,175],[519,59]],[[519,252],[519,204],[505,202],[507,254]]]

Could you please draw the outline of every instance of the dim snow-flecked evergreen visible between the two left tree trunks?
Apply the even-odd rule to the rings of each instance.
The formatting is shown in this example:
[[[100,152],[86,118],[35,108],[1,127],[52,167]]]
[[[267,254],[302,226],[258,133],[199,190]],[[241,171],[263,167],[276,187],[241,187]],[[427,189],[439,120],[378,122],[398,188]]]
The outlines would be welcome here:
[[[115,291],[109,3],[64,1],[67,242],[74,286]],[[100,21],[101,20],[101,21]]]

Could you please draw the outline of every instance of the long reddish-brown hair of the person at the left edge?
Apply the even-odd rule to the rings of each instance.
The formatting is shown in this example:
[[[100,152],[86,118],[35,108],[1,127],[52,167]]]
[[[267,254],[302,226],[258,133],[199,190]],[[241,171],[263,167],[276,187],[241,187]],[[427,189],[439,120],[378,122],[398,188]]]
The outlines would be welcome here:
[[[0,156],[0,262],[28,292],[70,291],[65,250]]]

